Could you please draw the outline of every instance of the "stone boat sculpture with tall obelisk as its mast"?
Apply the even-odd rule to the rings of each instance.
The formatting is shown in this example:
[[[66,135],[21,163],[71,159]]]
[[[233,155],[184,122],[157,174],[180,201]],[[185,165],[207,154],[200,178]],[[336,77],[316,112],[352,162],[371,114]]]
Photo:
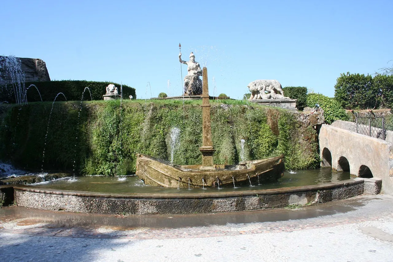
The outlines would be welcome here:
[[[168,161],[137,154],[136,175],[147,185],[161,187],[220,187],[276,181],[283,176],[284,156],[252,160],[239,165],[214,165],[208,71],[203,68],[202,165],[174,165]]]

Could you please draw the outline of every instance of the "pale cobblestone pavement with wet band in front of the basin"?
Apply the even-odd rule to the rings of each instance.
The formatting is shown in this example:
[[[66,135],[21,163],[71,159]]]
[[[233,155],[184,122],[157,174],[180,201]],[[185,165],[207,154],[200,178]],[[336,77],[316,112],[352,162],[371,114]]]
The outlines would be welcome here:
[[[393,197],[223,214],[0,209],[0,261],[393,261]]]

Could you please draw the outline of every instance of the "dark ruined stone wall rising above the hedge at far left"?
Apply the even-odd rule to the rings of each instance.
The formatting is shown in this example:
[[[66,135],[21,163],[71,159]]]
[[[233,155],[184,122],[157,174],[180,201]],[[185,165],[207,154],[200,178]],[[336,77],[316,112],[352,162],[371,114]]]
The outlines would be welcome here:
[[[0,56],[0,60],[6,57]],[[43,82],[50,81],[48,69],[43,60],[38,58],[19,58],[21,61],[21,70],[24,72],[25,82]],[[12,84],[11,76],[6,73],[5,68],[0,68],[0,84]]]

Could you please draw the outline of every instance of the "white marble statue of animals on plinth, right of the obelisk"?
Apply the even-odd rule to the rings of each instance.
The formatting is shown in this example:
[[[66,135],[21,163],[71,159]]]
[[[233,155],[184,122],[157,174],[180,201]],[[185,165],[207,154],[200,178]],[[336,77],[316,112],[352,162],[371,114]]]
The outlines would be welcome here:
[[[250,99],[289,99],[284,96],[283,88],[277,80],[255,80],[248,84]]]

